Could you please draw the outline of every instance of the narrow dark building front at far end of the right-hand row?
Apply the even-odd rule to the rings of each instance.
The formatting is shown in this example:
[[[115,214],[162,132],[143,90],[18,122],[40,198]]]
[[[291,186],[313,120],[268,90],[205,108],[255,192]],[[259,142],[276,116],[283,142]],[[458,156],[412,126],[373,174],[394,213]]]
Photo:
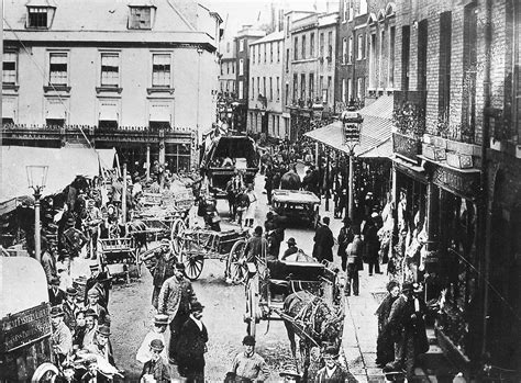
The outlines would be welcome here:
[[[245,133],[247,127],[247,108],[250,95],[250,44],[266,35],[266,32],[244,25],[234,38],[235,42],[235,129]]]

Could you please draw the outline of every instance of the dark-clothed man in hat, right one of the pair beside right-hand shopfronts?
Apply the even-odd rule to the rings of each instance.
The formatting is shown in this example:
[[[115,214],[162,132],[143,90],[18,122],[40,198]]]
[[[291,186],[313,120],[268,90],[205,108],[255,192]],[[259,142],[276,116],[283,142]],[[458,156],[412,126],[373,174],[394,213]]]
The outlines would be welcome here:
[[[404,369],[408,380],[414,374],[415,358],[429,350],[423,322],[426,306],[420,293],[418,283],[404,282],[387,324],[395,337],[395,360],[386,364],[384,372]]]

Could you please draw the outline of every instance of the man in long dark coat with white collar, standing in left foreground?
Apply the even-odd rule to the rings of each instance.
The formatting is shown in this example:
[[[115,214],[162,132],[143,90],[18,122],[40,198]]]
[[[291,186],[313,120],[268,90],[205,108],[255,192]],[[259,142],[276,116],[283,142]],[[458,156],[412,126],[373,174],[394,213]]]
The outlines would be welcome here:
[[[204,383],[208,331],[201,322],[203,308],[200,302],[192,303],[190,316],[181,327],[177,343],[178,371],[188,382]]]

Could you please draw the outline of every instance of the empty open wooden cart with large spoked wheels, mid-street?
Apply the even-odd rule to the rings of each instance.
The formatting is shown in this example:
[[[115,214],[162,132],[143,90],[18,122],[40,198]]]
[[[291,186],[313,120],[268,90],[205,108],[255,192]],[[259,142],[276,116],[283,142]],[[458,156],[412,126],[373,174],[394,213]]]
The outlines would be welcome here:
[[[204,259],[225,261],[225,277],[232,283],[246,279],[246,266],[243,254],[248,230],[214,232],[202,228],[189,229],[181,219],[173,225],[173,249],[185,264],[186,277],[195,281],[204,266]]]

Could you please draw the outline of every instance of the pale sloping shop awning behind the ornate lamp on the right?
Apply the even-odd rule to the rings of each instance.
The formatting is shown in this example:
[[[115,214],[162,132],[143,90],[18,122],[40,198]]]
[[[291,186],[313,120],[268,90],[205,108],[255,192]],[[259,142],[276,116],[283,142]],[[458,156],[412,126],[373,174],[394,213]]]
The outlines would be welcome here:
[[[359,144],[355,146],[355,156],[363,158],[389,158],[392,154],[392,95],[383,95],[374,103],[358,111],[364,117]],[[344,145],[342,122],[308,132],[306,135],[334,149],[350,153]]]

